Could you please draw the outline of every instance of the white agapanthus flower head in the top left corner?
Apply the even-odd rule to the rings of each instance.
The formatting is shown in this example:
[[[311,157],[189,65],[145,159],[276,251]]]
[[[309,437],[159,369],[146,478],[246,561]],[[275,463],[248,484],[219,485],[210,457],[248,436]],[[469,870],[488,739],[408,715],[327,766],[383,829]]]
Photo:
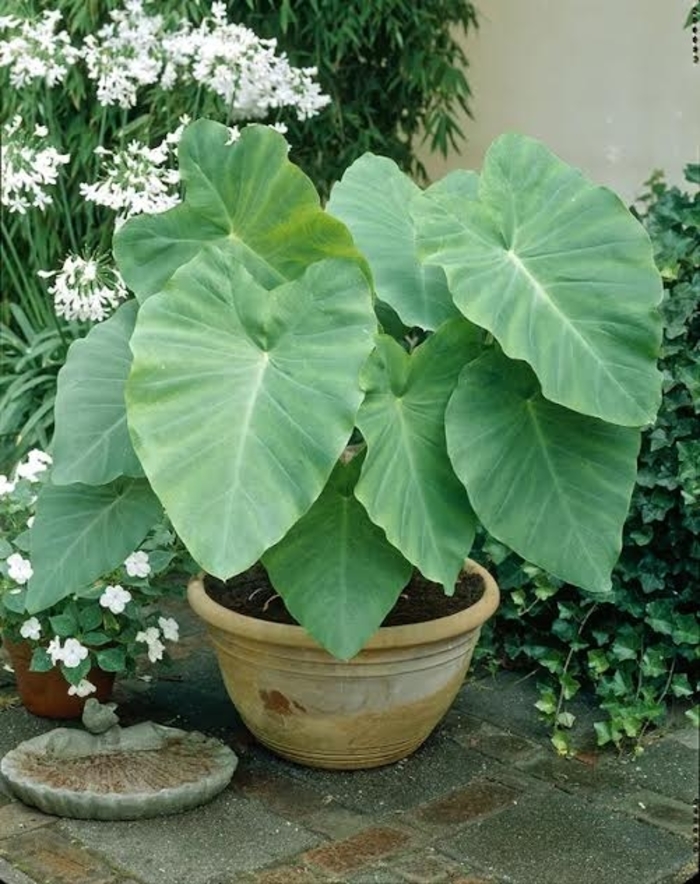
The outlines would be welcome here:
[[[40,18],[0,17],[0,67],[10,69],[10,83],[19,88],[33,80],[45,80],[47,86],[62,83],[68,69],[81,52],[66,31],[57,31],[61,13],[44,10]]]

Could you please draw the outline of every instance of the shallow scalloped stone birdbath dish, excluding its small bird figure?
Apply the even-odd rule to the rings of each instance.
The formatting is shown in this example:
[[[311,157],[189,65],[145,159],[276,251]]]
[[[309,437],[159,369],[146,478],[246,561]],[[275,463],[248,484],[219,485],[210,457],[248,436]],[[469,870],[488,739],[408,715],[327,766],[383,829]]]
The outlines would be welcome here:
[[[17,798],[44,813],[130,820],[205,804],[237,764],[219,740],[148,721],[102,734],[56,728],[8,752],[0,773]]]

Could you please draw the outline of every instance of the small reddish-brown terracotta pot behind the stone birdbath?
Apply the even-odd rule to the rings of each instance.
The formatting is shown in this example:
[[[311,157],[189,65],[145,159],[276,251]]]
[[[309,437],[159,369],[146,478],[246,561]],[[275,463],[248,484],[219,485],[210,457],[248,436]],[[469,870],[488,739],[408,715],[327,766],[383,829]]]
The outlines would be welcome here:
[[[61,675],[60,669],[54,667],[48,672],[32,672],[29,669],[32,661],[31,645],[27,642],[11,642],[7,638],[3,639],[3,643],[15,671],[20,699],[29,712],[44,718],[80,718],[87,698],[69,695],[70,685]],[[97,691],[90,696],[105,703],[112,694],[115,678],[113,672],[91,669],[87,680],[95,685]]]

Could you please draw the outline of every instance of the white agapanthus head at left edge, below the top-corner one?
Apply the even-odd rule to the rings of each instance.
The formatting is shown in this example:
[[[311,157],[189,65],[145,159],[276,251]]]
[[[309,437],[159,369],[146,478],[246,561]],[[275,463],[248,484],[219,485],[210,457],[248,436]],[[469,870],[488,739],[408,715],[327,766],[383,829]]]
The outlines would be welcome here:
[[[16,116],[2,130],[0,203],[8,211],[24,215],[32,206],[43,210],[51,205],[53,198],[47,188],[56,183],[59,167],[69,162],[70,156],[44,143],[48,135],[44,126],[36,126],[28,134],[21,131],[22,125],[22,117]]]

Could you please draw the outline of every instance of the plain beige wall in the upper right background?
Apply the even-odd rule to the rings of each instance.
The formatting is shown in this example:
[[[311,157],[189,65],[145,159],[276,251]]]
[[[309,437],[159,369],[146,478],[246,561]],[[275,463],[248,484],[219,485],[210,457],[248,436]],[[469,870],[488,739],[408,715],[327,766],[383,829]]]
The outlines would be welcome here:
[[[690,0],[476,0],[467,39],[475,119],[431,177],[479,169],[500,133],[545,141],[626,201],[655,168],[700,162],[700,65],[683,30]]]

